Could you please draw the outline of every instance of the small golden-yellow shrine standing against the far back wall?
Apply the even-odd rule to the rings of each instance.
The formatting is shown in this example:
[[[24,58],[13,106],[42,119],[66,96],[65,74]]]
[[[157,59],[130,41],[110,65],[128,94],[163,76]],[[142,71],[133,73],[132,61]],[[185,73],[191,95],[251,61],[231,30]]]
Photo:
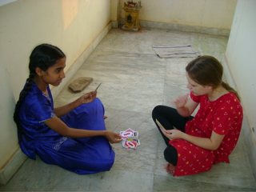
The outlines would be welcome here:
[[[141,9],[141,2],[125,2],[123,9],[125,13],[125,25],[122,26],[122,30],[138,31],[140,29],[138,23],[138,12]]]

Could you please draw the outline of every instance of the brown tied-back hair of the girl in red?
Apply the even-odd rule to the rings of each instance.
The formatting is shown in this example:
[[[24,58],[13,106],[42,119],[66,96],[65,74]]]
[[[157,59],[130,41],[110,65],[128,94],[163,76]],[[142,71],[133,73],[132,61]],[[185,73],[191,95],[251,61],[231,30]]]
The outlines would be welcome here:
[[[234,93],[240,101],[238,92],[227,82],[222,81],[223,66],[218,62],[218,59],[208,55],[195,58],[186,66],[186,72],[190,78],[199,85],[210,85],[213,89],[222,86],[226,90]]]

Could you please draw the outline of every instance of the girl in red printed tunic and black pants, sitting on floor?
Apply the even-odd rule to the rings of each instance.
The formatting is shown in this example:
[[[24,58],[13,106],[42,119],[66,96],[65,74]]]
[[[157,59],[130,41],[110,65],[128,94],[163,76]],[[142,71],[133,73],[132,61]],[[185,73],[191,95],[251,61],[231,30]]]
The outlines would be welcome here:
[[[238,93],[222,82],[223,67],[216,58],[201,56],[186,66],[190,94],[174,99],[176,109],[156,106],[154,122],[166,142],[166,172],[174,176],[198,174],[219,162],[229,163],[242,127]],[[190,97],[189,97],[190,96]],[[197,108],[197,114],[191,114]]]

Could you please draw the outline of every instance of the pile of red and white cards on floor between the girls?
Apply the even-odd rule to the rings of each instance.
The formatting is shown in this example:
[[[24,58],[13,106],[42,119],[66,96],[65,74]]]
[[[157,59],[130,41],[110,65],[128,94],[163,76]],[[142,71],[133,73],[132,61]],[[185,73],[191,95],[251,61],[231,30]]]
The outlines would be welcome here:
[[[120,131],[122,137],[122,147],[126,149],[136,149],[140,145],[138,139],[138,131],[131,130],[130,128],[125,131]]]

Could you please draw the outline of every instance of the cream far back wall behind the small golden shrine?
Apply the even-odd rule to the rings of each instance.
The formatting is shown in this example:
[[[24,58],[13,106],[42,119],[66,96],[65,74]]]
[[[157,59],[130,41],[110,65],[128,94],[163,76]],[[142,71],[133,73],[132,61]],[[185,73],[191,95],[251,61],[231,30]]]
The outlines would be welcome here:
[[[134,0],[138,2],[139,0]],[[140,21],[230,30],[237,0],[140,0]],[[120,0],[120,17],[126,0]]]

